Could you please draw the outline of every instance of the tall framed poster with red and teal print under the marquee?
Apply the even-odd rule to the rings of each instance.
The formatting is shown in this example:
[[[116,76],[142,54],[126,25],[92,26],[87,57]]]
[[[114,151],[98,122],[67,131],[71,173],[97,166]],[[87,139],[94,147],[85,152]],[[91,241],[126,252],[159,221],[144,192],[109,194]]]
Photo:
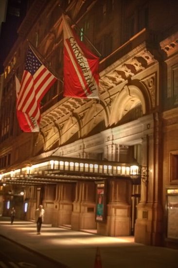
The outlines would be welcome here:
[[[97,222],[106,221],[106,181],[96,182],[96,215]]]

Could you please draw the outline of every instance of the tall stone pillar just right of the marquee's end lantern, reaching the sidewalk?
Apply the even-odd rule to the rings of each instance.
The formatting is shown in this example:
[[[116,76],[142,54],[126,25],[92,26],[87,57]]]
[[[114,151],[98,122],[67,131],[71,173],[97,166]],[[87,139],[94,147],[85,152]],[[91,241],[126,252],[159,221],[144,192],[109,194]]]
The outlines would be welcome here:
[[[147,245],[162,245],[163,216],[162,216],[162,176],[160,172],[162,144],[161,127],[157,115],[154,116],[154,128],[148,128],[143,138],[142,165],[147,166],[147,183],[141,183],[141,202],[138,205],[138,218],[135,224],[135,242]],[[145,141],[146,144],[145,145]],[[147,161],[145,162],[145,156]]]

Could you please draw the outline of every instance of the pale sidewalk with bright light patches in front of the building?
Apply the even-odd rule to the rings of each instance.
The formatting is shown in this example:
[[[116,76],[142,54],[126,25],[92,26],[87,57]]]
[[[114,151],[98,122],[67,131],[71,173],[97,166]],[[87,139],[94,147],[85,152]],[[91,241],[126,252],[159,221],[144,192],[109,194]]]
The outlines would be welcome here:
[[[36,235],[36,224],[0,217],[0,235],[60,262],[69,268],[94,268],[99,247],[102,268],[178,268],[178,250],[144,246],[133,237],[107,237],[54,228],[43,224]]]

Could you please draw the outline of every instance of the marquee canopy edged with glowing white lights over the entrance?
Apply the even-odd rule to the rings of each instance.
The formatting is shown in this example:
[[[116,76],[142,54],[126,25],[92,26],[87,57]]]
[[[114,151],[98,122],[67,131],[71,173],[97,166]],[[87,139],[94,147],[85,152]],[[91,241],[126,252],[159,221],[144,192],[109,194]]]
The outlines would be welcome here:
[[[47,156],[22,164],[16,169],[11,167],[0,174],[0,183],[43,185],[127,178],[132,179],[134,184],[140,184],[140,174],[141,167],[133,163]]]

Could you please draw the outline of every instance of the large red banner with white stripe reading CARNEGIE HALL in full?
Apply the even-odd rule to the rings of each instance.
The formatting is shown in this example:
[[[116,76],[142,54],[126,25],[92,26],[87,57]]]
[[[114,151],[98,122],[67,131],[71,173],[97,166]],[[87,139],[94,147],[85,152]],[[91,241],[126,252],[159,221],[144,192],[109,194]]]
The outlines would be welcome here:
[[[63,15],[64,96],[98,98],[99,57],[82,43]]]

